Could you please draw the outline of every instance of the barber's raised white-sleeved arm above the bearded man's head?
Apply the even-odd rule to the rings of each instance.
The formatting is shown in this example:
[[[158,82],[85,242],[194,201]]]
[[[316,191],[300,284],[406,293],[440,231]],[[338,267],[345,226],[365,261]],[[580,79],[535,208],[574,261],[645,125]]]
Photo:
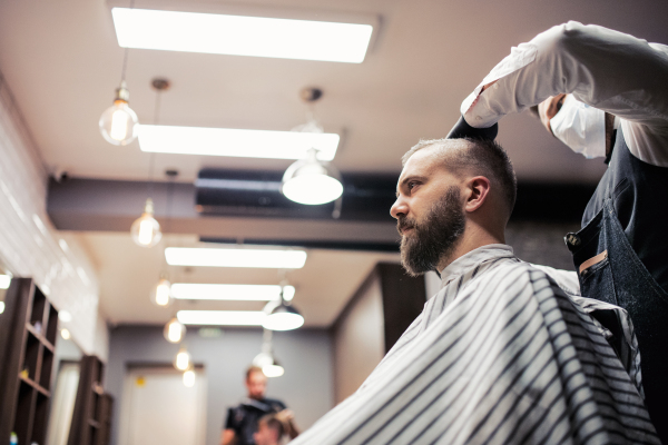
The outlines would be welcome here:
[[[485,128],[551,96],[572,93],[619,117],[637,158],[668,167],[666,79],[668,47],[570,21],[513,48],[464,99],[461,112],[469,125]]]

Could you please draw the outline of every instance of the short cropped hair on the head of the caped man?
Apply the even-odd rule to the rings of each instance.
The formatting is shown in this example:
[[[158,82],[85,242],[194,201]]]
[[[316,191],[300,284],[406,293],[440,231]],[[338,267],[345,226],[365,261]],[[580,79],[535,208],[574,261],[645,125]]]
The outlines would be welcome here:
[[[466,147],[449,149],[449,146],[456,141],[462,141]],[[508,207],[508,217],[510,217],[518,194],[518,181],[512,162],[499,142],[470,138],[421,140],[401,158],[402,166],[405,166],[409,158],[416,151],[432,146],[440,148],[442,161],[453,172],[468,170],[473,175],[488,178],[492,182],[492,187],[499,187]]]

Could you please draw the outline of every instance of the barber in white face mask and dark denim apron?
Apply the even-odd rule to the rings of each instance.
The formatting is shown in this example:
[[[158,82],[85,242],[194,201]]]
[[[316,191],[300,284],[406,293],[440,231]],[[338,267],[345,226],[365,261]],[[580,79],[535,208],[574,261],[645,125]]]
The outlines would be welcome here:
[[[647,407],[668,443],[668,47],[571,21],[513,48],[461,112],[490,128],[530,107],[574,151],[606,157],[566,243],[582,296],[631,316]]]

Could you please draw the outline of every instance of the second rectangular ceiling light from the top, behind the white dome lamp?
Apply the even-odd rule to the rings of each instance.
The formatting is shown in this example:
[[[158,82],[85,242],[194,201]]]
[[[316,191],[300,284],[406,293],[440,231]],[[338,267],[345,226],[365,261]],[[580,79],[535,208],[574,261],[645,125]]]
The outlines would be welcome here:
[[[139,127],[139,148],[148,152],[233,156],[242,158],[304,159],[310,148],[318,159],[332,160],[338,135],[230,128],[151,126]]]

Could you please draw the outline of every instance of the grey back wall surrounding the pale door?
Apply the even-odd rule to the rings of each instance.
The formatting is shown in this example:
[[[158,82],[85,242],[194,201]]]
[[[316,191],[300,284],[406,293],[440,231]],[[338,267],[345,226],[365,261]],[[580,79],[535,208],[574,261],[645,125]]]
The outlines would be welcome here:
[[[245,372],[261,352],[262,329],[226,328],[223,336],[200,337],[188,327],[184,344],[196,365],[204,365],[207,379],[206,444],[218,445],[227,408],[246,397]],[[295,413],[298,428],[306,429],[334,406],[330,333],[296,329],[273,335],[274,354],[285,374],[269,379],[267,397],[278,398]],[[111,444],[120,436],[124,378],[135,366],[169,366],[178,345],[163,336],[163,326],[119,326],[111,330],[105,388],[115,397]]]

